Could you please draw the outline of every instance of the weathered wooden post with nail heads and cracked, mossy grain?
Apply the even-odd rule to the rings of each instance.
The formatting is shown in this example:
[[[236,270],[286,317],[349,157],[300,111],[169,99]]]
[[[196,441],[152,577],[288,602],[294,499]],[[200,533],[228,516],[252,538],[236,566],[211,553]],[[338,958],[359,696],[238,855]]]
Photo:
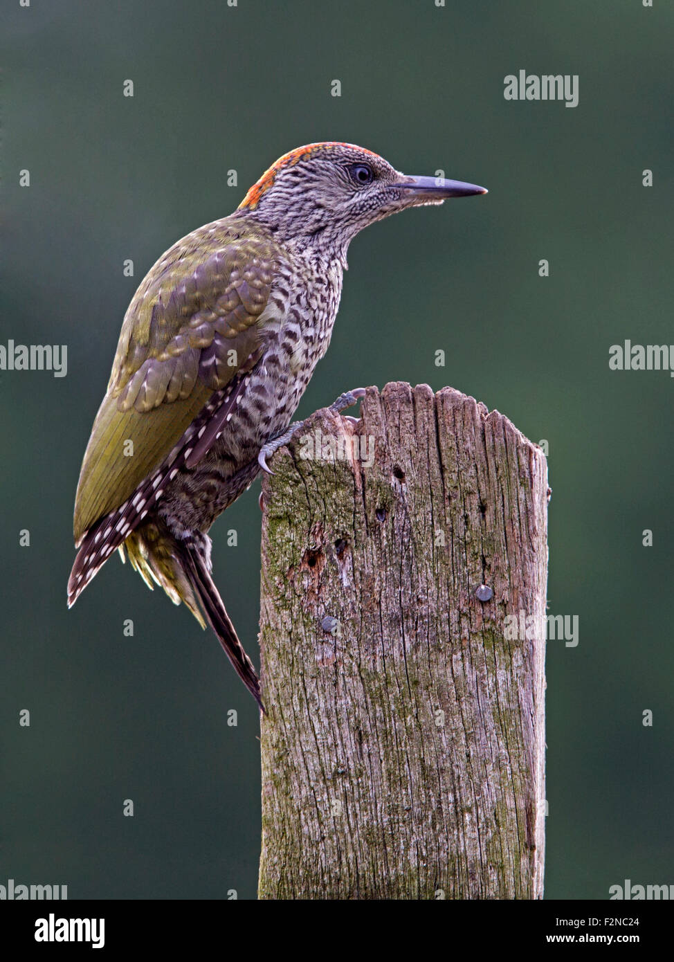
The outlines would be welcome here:
[[[394,383],[270,465],[260,898],[541,898],[542,451]]]

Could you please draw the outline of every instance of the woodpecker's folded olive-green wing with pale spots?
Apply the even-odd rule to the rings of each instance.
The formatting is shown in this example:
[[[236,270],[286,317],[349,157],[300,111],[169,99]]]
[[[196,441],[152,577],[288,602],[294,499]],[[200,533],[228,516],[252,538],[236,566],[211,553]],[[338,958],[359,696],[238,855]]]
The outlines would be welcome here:
[[[256,352],[276,254],[273,241],[225,218],[178,241],[147,274],[124,317],[87,444],[76,544],[134,493]]]

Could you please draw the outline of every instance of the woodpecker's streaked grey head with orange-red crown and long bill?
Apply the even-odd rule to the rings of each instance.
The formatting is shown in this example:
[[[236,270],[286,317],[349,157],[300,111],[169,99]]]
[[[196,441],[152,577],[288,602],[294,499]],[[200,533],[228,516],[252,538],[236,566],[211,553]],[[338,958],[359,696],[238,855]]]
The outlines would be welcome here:
[[[383,157],[351,143],[296,147],[271,165],[238,211],[255,215],[287,241],[344,260],[363,227],[408,207],[487,193],[483,187],[437,177],[410,177]]]

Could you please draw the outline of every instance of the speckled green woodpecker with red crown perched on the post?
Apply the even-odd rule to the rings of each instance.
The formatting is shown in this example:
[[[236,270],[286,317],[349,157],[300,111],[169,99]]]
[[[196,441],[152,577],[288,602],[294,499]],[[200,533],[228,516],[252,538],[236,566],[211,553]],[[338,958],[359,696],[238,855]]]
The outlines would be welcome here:
[[[150,588],[211,625],[263,710],[212,580],[208,531],[299,426],[290,419],[330,343],[349,242],[408,207],[481,193],[406,176],[354,144],[312,143],[162,255],[124,316],[87,444],[68,607],[118,548]]]

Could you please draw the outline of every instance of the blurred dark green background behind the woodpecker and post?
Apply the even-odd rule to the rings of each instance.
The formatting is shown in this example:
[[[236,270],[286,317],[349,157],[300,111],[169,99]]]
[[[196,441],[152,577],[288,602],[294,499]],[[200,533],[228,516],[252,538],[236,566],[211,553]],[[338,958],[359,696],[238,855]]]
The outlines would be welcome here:
[[[338,139],[489,194],[354,241],[299,414],[359,385],[450,384],[549,441],[550,611],[580,617],[580,645],[548,646],[546,896],[674,883],[674,381],[608,366],[625,338],[674,341],[672,8],[12,0],[4,20],[0,342],[66,343],[68,373],[0,372],[0,882],[255,897],[255,704],[212,636],[116,558],[66,610],[72,505],[144,273],[280,154]],[[580,105],[507,102],[520,68],[578,74]],[[213,529],[215,580],[256,660],[257,489]]]

